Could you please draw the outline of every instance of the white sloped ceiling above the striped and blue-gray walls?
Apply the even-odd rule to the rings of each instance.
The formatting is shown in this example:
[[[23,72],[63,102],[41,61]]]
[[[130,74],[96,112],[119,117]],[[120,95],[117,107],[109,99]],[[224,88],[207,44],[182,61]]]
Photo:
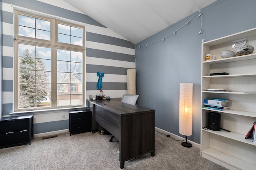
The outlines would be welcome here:
[[[216,0],[63,0],[136,44]]]

